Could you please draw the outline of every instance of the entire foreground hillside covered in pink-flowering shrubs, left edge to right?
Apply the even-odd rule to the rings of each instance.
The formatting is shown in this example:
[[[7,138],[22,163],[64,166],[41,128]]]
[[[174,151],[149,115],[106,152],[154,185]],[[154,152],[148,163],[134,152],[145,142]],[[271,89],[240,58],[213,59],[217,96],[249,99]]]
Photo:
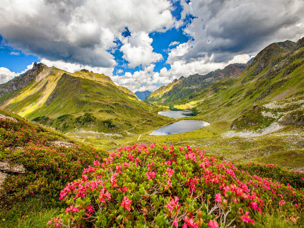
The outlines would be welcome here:
[[[216,202],[214,202],[214,191],[218,191],[216,189],[219,189],[221,182],[217,183],[214,181],[214,183],[212,183],[209,181],[206,183],[206,175],[199,175],[202,172],[205,172],[203,170],[200,170],[201,167],[199,164],[206,164],[206,166],[208,166],[208,171],[211,170],[213,172],[208,172],[209,175],[211,175],[211,178],[220,178],[220,181],[222,181],[222,178],[225,178],[224,183],[226,186],[230,186],[227,184],[229,183],[228,181],[234,181],[236,182],[237,186],[240,185],[239,181],[235,181],[233,179],[232,174],[235,174],[236,178],[244,183],[241,185],[242,187],[240,189],[247,189],[248,187],[250,191],[249,193],[246,192],[246,194],[255,195],[254,193],[257,193],[257,196],[261,197],[261,200],[263,200],[263,204],[265,205],[262,206],[262,201],[257,201],[258,206],[261,207],[260,213],[255,212],[253,209],[254,207],[250,207],[250,204],[243,202],[243,199],[239,200],[239,198],[237,198],[238,202],[236,204],[232,199],[235,197],[240,197],[241,194],[236,193],[234,195],[234,191],[236,190],[235,189],[229,192],[228,196],[224,196],[224,194],[221,196],[223,197],[222,199],[233,197],[232,199],[229,198],[229,204],[227,203],[226,206],[228,207],[227,210],[232,210],[227,213],[231,212],[232,215],[240,217],[242,215],[239,214],[240,207],[242,207],[244,210],[250,210],[250,216],[252,219],[254,219],[256,227],[291,227],[302,223],[301,213],[303,206],[301,203],[302,193],[300,192],[301,188],[303,187],[303,182],[301,181],[301,178],[303,177],[302,173],[286,171],[285,169],[281,169],[274,165],[261,165],[254,163],[233,165],[226,161],[218,161],[213,157],[208,158],[202,151],[195,149],[192,150],[191,147],[180,149],[178,146],[175,146],[174,149],[174,146],[172,145],[170,147],[167,147],[166,145],[155,145],[155,143],[151,144],[150,146],[147,145],[147,147],[145,145],[133,145],[132,147],[119,148],[116,150],[116,153],[113,152],[110,154],[110,159],[105,159],[106,154],[108,154],[107,152],[103,150],[95,150],[94,148],[84,143],[79,143],[76,140],[72,140],[64,136],[62,133],[59,133],[50,128],[46,128],[37,123],[33,123],[32,121],[26,120],[12,112],[0,110],[0,122],[0,162],[8,162],[8,167],[14,167],[16,165],[22,165],[24,167],[23,174],[4,171],[3,165],[0,167],[1,172],[4,172],[6,174],[6,179],[1,186],[3,195],[0,196],[0,227],[45,227],[47,221],[51,220],[52,217],[55,217],[58,214],[60,214],[61,217],[64,216],[64,213],[68,212],[66,208],[70,204],[73,204],[75,207],[82,205],[82,208],[86,210],[88,205],[92,204],[95,206],[95,203],[99,202],[98,200],[95,201],[94,197],[98,197],[100,195],[100,190],[102,187],[106,187],[108,189],[109,186],[112,186],[112,183],[116,183],[116,176],[117,185],[119,186],[117,186],[117,188],[111,189],[110,194],[112,195],[111,199],[115,202],[118,200],[119,205],[122,201],[122,195],[121,192],[119,192],[120,186],[126,187],[126,193],[123,194],[127,195],[129,198],[132,197],[130,194],[136,194],[137,198],[132,198],[134,201],[136,199],[140,199],[138,196],[141,196],[140,194],[143,194],[142,192],[137,192],[138,188],[142,188],[141,185],[139,186],[136,184],[130,184],[132,180],[144,181],[144,188],[151,188],[151,190],[149,190],[149,192],[151,191],[151,195],[147,195],[147,197],[143,196],[144,198],[141,200],[141,202],[147,201],[147,204],[144,207],[147,210],[154,208],[153,205],[150,205],[152,204],[150,203],[152,201],[149,199],[151,196],[152,200],[156,199],[157,203],[161,202],[161,199],[163,199],[162,204],[159,203],[156,205],[159,205],[164,209],[166,208],[165,200],[168,200],[168,202],[170,202],[171,195],[177,195],[180,197],[179,203],[183,205],[184,199],[182,197],[187,199],[193,197],[193,194],[189,192],[189,187],[187,184],[191,183],[189,180],[192,179],[187,177],[185,178],[184,175],[181,175],[184,173],[187,175],[194,175],[196,181],[192,183],[197,183],[196,189],[199,190],[197,192],[200,194],[209,195],[209,198],[206,196],[206,199],[209,200],[208,204],[216,204]],[[208,148],[206,149],[209,150]],[[183,150],[185,150],[185,152]],[[174,153],[171,153],[173,151]],[[196,155],[196,153],[198,154]],[[119,163],[120,161],[117,163],[116,160],[113,163],[113,160],[116,159],[116,155],[118,157],[118,154],[122,155],[120,156],[121,163]],[[171,161],[171,157],[177,157],[177,154],[178,158],[175,158],[174,160],[172,159],[173,161]],[[138,155],[142,156],[140,157],[138,163],[139,170],[136,169],[133,172],[131,168],[137,168],[137,159],[135,158],[137,158]],[[113,158],[113,156],[115,156],[115,158]],[[163,159],[164,156],[166,160]],[[161,162],[156,163],[157,159],[161,160]],[[103,165],[98,165],[98,162],[94,162],[94,160],[99,161]],[[178,161],[178,163],[176,161]],[[125,168],[124,164],[126,164],[126,162],[131,165],[130,168]],[[150,168],[149,165],[147,166],[147,163],[150,163],[150,165],[153,163],[153,170],[157,173],[155,178],[148,180],[148,182],[146,171]],[[124,168],[122,168],[122,172],[117,172],[116,174],[115,168],[119,169],[119,164],[121,164]],[[193,168],[193,164],[197,166],[195,169]],[[96,168],[99,169],[101,167],[104,167],[104,165],[107,167],[105,170],[112,170],[105,171],[105,173],[109,176],[109,181],[107,183],[101,183],[101,181],[98,181],[101,180],[100,177],[94,179],[93,181],[90,181],[92,172],[95,172]],[[113,169],[108,169],[110,165]],[[166,171],[166,167],[164,165],[167,165],[172,169],[170,168],[168,170],[167,168]],[[207,167],[205,168],[205,166],[203,166],[203,168],[206,169]],[[142,169],[147,170],[142,171]],[[185,171],[184,169],[187,170]],[[166,173],[169,174],[170,170],[172,171],[170,178],[172,182],[168,181],[168,185],[171,183],[171,187],[169,187],[168,190],[162,186],[162,188],[158,187],[158,185],[167,183],[167,180],[164,178],[167,178]],[[246,174],[246,171],[249,173]],[[220,175],[218,175],[219,172]],[[136,178],[126,178],[125,173],[134,176],[136,175]],[[99,170],[97,170],[95,174],[104,175],[104,173]],[[259,177],[250,175],[257,175]],[[73,181],[80,180],[80,178],[82,178],[81,184],[74,185]],[[159,178],[163,179],[158,180]],[[211,180],[211,178],[209,179],[209,176],[207,178],[208,180]],[[106,178],[102,176],[102,180],[105,179]],[[271,189],[275,192],[271,192],[271,189],[269,188],[265,192],[264,188],[256,187],[264,186],[263,184],[265,184],[265,180],[267,181],[266,184],[271,184]],[[87,181],[89,183],[87,183]],[[151,181],[154,183],[153,185],[151,184]],[[201,181],[202,184],[200,184]],[[157,186],[157,190],[155,190],[155,186]],[[185,188],[185,190],[183,190],[181,187]],[[86,194],[81,195],[81,197],[78,197],[78,199],[75,201],[59,200],[59,195],[64,197],[64,192],[66,192],[67,189],[74,188],[75,191],[72,191],[74,194],[81,193],[81,191],[84,191]],[[95,188],[98,188],[97,192],[95,191]],[[204,191],[201,191],[200,188],[204,188]],[[62,191],[60,193],[60,191],[63,189],[65,189],[65,191]],[[108,190],[106,191],[108,192]],[[160,191],[162,191],[162,195],[160,197],[154,197],[159,194]],[[92,192],[94,193],[93,197],[91,197]],[[66,197],[69,197],[69,194],[70,193],[68,193]],[[283,195],[283,199],[278,194]],[[244,194],[242,194],[241,197],[243,196]],[[269,200],[270,197],[271,201]],[[244,199],[247,198],[244,197]],[[253,198],[253,200],[256,200],[256,198]],[[281,206],[279,203],[282,202],[281,200],[283,200],[284,204],[286,203],[285,206]],[[271,204],[268,204],[269,202],[271,202]],[[187,208],[191,209],[192,200],[185,201],[185,203],[190,204],[190,207]],[[203,203],[205,202],[202,202],[202,204]],[[295,205],[295,203],[298,205]],[[137,201],[133,202],[133,205],[137,204]],[[113,202],[107,201],[106,205],[109,207],[109,209],[102,210],[102,212],[112,213],[110,209],[112,209],[112,205],[114,205]],[[195,205],[197,206],[199,204]],[[232,207],[233,205],[234,207]],[[208,207],[206,208],[208,210]],[[212,208],[212,206],[209,208]],[[135,211],[135,209],[132,210]],[[280,210],[281,213],[275,213],[278,215],[273,216],[272,214],[277,210]],[[184,213],[184,210],[181,210],[180,212]],[[73,219],[75,217],[78,219],[86,220],[88,218],[87,215],[92,215],[90,213],[84,213],[85,212],[83,212],[81,216],[75,216],[75,214],[73,214]],[[126,216],[128,219],[132,217],[131,214],[125,214],[121,209],[114,211],[114,213],[117,213],[120,216]],[[209,215],[210,219],[216,220],[218,217],[216,217],[214,213],[215,212],[210,212],[206,215]],[[140,213],[138,214],[140,215]],[[154,213],[150,213],[150,216],[151,215],[155,216]],[[93,214],[93,216],[95,216],[95,214]],[[110,214],[110,216],[112,216],[112,214]],[[163,216],[167,215],[162,213],[161,217]],[[193,211],[193,218],[196,219],[197,216],[198,215],[196,212]],[[183,217],[184,216],[181,216],[181,219]],[[93,219],[93,221],[95,220],[96,219]],[[103,220],[108,221],[110,224],[112,224],[112,221],[109,219]],[[118,216],[117,220],[119,220]],[[113,220],[113,222],[114,221],[116,220]],[[138,218],[138,221],[143,221],[143,219],[140,220],[140,218]],[[158,220],[155,219],[155,221]],[[207,224],[208,221],[209,219],[205,219],[203,222]],[[240,219],[237,221],[242,224]],[[159,224],[159,222],[157,222],[157,224]],[[167,225],[171,226],[171,223],[165,222],[164,227]],[[56,227],[56,224],[54,224],[54,226]]]

